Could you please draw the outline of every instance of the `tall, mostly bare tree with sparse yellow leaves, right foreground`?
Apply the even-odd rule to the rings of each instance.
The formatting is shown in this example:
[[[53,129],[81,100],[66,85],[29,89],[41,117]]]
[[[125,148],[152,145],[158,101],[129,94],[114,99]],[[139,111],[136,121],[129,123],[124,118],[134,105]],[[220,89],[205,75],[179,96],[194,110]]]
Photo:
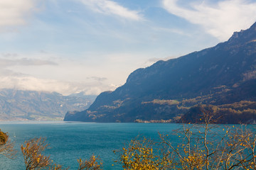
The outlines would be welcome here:
[[[213,113],[202,111],[200,124],[183,124],[172,135],[160,135],[176,169],[256,169],[255,132],[246,125],[220,129]],[[170,137],[179,138],[174,145]]]

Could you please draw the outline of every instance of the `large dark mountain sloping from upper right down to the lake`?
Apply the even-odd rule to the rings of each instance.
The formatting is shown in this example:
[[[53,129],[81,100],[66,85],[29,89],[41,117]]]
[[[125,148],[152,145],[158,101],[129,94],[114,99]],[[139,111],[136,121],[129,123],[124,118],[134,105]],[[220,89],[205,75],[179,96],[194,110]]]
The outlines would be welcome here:
[[[64,120],[95,122],[176,121],[198,104],[256,101],[256,23],[226,42],[137,69],[115,91]],[[256,109],[256,108],[255,108]]]

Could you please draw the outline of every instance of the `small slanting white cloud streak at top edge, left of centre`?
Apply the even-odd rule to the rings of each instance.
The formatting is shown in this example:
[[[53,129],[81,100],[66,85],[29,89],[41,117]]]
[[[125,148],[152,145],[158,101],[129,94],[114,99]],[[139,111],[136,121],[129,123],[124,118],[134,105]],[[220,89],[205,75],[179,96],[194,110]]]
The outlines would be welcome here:
[[[83,4],[90,6],[93,11],[105,13],[107,15],[120,16],[134,21],[142,20],[138,11],[131,11],[124,6],[120,6],[114,1],[109,0],[80,0]]]

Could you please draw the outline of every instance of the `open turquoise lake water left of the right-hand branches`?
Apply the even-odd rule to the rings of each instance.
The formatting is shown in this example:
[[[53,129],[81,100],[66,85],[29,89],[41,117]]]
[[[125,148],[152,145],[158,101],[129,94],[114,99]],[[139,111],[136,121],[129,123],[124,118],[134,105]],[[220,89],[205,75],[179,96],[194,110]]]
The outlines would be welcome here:
[[[113,150],[121,149],[137,135],[159,140],[158,132],[168,133],[179,126],[161,123],[0,123],[1,130],[9,132],[18,149],[16,159],[6,159],[0,155],[0,169],[25,169],[20,146],[33,137],[46,137],[50,144],[46,155],[50,154],[54,162],[70,169],[78,169],[77,159],[86,159],[92,154],[100,156],[104,169],[122,169],[114,163],[117,155]]]

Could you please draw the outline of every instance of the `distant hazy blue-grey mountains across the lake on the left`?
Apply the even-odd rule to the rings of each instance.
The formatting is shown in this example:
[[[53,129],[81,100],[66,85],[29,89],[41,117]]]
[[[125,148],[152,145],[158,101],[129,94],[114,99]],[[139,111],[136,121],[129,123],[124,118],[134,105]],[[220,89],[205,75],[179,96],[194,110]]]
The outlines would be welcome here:
[[[39,91],[0,90],[0,120],[63,120],[67,111],[83,111],[95,96]]]

